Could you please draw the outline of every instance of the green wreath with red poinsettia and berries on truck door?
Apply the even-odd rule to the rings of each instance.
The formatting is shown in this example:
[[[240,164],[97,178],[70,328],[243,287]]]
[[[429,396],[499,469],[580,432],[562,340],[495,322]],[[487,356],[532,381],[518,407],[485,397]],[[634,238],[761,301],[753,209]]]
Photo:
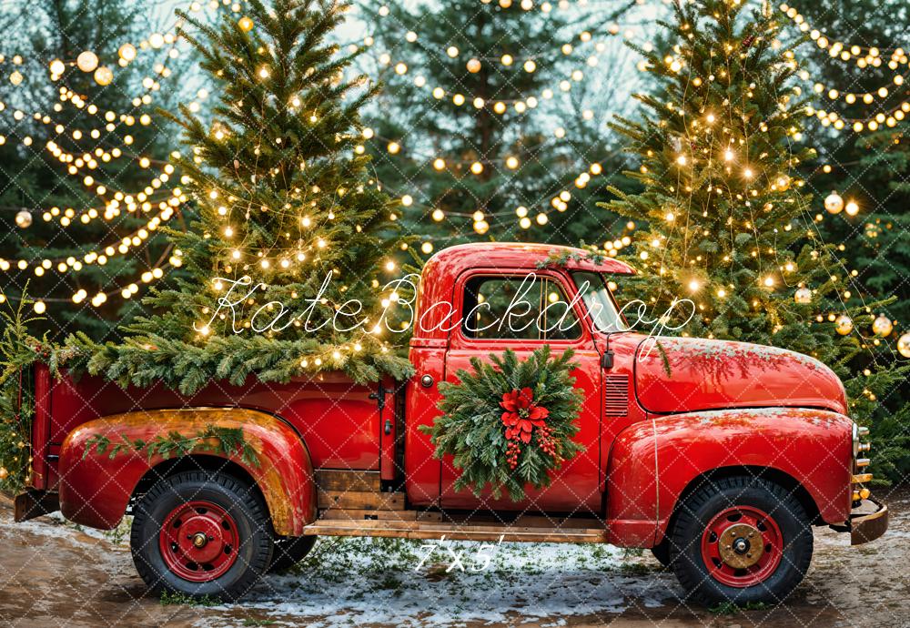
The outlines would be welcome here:
[[[490,356],[492,364],[471,359],[473,372],[459,370],[457,383],[440,383],[442,415],[420,429],[430,434],[433,455],[450,454],[461,470],[456,491],[480,495],[489,484],[494,497],[505,488],[521,501],[526,484],[549,486],[549,472],[584,451],[571,441],[584,394],[569,374],[573,355],[552,357],[545,345],[519,360],[506,349]]]

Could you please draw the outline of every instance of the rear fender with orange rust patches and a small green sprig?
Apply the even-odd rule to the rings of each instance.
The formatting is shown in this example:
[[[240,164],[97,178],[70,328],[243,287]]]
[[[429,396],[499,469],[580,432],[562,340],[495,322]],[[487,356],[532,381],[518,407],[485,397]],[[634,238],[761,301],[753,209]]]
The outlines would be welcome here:
[[[145,451],[122,451],[110,458],[86,446],[94,436],[112,443],[152,441],[177,431],[192,436],[207,426],[240,428],[256,453],[257,464],[238,454],[205,451],[226,458],[248,472],[262,492],[275,532],[299,536],[316,519],[316,484],[309,453],[298,434],[286,423],[257,410],[197,408],[127,412],[88,421],[69,433],[60,450],[60,511],[66,519],[92,528],[109,530],[126,512],[130,496],[146,473],[164,459]],[[192,455],[190,453],[189,455]]]

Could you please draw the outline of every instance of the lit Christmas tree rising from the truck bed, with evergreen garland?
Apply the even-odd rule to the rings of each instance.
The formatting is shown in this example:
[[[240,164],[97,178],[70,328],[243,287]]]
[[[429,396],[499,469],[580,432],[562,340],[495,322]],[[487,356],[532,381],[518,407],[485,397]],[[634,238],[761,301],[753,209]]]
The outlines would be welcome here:
[[[406,374],[389,347],[397,293],[396,208],[369,179],[359,108],[376,92],[350,76],[355,54],[329,43],[346,5],[248,3],[217,27],[181,15],[212,76],[218,104],[204,121],[173,119],[176,159],[198,221],[169,230],[190,274],[146,299],[122,344],[70,339],[88,370],[184,392],[212,379],[287,380],[344,370],[356,380]],[[192,30],[190,30],[192,29]]]

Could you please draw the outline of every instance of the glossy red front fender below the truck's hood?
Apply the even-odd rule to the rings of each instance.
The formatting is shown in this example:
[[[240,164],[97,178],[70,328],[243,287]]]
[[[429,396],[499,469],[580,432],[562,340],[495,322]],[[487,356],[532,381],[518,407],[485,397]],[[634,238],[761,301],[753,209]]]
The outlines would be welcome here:
[[[617,437],[608,476],[607,522],[641,542],[660,541],[683,491],[703,474],[748,467],[785,473],[809,494],[826,523],[850,514],[853,421],[828,410],[713,410],[633,424]]]

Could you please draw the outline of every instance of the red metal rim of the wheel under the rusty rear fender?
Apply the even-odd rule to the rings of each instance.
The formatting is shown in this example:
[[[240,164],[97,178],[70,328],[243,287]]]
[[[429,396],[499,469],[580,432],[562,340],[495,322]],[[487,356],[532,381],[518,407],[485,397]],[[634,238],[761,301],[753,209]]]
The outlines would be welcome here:
[[[234,518],[211,501],[187,501],[165,518],[158,547],[167,569],[190,582],[224,575],[237,561]]]

